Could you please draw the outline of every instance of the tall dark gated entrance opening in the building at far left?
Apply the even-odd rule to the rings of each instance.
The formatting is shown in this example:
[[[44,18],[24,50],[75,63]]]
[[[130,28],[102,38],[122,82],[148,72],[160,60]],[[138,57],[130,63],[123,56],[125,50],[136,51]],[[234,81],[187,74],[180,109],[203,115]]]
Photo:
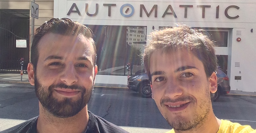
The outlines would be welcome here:
[[[16,46],[17,40],[23,40],[23,48]],[[23,70],[26,70],[29,61],[29,10],[0,9],[0,72],[19,73],[22,58]]]

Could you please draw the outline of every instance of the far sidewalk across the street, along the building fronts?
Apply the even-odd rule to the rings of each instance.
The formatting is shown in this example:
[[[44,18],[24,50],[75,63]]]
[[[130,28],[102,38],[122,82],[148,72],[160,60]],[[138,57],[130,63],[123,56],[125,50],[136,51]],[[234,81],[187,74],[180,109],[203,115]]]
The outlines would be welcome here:
[[[7,74],[7,73],[0,73],[0,81],[2,82],[15,82],[15,83],[29,83],[28,81],[28,74],[24,74],[22,76],[21,81],[20,74]],[[95,87],[102,87],[102,88],[121,88],[127,89],[126,87],[118,87],[116,85],[111,86],[111,84],[95,84]],[[229,94],[226,95],[240,95],[240,96],[256,96],[256,92],[243,92],[243,91],[233,91],[231,90]]]

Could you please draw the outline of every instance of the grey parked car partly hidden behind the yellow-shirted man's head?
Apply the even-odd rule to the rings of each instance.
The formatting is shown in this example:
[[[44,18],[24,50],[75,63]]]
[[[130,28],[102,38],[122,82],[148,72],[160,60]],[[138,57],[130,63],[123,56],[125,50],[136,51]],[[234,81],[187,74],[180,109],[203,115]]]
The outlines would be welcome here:
[[[229,78],[220,69],[216,71],[218,78],[218,89],[212,96],[212,101],[218,100],[220,95],[228,94],[230,91]],[[127,87],[133,91],[139,92],[141,97],[150,98],[152,95],[150,81],[145,70],[140,70],[128,78]]]

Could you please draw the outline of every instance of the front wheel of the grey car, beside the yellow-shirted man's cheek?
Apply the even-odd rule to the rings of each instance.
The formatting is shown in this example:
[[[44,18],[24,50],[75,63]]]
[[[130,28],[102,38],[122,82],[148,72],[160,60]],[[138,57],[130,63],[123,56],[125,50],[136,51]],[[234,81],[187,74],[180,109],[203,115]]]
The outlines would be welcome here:
[[[151,98],[151,86],[149,82],[142,82],[139,86],[139,94],[141,97],[144,98]]]

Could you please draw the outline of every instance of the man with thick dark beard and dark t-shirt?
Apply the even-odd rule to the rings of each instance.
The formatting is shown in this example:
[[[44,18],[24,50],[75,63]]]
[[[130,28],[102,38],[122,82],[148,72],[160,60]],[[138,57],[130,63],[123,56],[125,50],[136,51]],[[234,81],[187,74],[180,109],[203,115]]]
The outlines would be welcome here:
[[[36,30],[27,70],[39,116],[2,133],[127,133],[87,110],[97,74],[92,36],[67,18],[53,18]]]

